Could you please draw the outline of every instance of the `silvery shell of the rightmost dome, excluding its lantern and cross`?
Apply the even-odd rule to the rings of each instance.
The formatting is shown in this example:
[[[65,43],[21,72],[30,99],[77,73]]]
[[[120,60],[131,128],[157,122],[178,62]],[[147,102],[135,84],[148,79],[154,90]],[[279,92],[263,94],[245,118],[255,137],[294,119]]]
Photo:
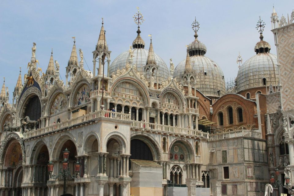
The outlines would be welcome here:
[[[266,78],[267,86],[270,84],[277,86],[279,83],[277,64],[277,55],[266,52],[249,58],[238,71],[236,77],[237,92],[264,86],[263,78]]]

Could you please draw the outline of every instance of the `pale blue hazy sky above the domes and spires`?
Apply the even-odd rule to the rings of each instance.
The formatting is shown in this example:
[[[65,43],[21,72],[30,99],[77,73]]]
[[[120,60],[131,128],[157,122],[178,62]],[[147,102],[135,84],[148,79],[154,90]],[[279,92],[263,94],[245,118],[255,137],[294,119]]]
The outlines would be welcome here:
[[[15,1],[0,2],[0,85],[3,77],[12,92],[19,67],[22,80],[32,56],[32,43],[36,43],[36,58],[46,71],[51,48],[53,58],[60,65],[60,77],[65,81],[67,62],[76,37],[76,47],[84,53],[84,68],[92,71],[92,51],[99,37],[101,18],[104,18],[106,40],[113,61],[127,51],[137,36],[133,16],[139,7],[145,21],[140,25],[141,37],[148,50],[152,34],[154,52],[169,67],[186,58],[186,45],[194,40],[191,24],[196,17],[200,24],[198,40],[207,47],[205,56],[213,59],[224,72],[226,81],[238,73],[237,56],[243,63],[255,55],[259,41],[256,24],[259,16],[266,23],[264,40],[276,54],[270,16],[273,4],[278,16],[287,16],[294,9],[293,0],[87,0],[87,1]],[[86,63],[85,63],[86,62]]]

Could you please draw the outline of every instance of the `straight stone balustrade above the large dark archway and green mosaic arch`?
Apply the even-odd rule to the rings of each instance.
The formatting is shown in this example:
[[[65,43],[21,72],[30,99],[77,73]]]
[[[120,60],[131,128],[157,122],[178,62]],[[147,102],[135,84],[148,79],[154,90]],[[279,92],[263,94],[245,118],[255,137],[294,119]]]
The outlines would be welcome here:
[[[175,126],[167,126],[167,125],[159,125],[154,123],[146,123],[132,120],[132,128],[134,129],[145,129],[148,131],[158,131],[158,132],[166,132],[166,133],[174,133],[179,135],[190,135],[201,138],[209,138],[209,133],[205,133],[199,130],[185,129]]]

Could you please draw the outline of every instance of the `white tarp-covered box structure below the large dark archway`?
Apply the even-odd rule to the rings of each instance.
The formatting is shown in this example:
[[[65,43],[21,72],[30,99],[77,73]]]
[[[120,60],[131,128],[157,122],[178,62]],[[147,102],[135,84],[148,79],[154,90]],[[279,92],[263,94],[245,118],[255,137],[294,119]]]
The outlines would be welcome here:
[[[146,160],[131,160],[133,177],[131,187],[161,187],[162,166]]]

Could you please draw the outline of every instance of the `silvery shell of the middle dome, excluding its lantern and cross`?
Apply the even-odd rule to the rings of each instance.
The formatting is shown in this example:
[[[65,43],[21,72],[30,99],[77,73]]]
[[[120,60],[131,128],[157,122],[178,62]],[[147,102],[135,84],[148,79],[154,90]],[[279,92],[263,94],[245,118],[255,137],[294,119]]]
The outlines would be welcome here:
[[[184,74],[186,59],[181,61],[174,71],[179,83]],[[196,88],[205,96],[222,96],[225,93],[224,74],[216,62],[202,55],[190,56],[190,63],[196,77]],[[206,75],[205,75],[206,72]],[[218,93],[220,91],[220,95]]]

